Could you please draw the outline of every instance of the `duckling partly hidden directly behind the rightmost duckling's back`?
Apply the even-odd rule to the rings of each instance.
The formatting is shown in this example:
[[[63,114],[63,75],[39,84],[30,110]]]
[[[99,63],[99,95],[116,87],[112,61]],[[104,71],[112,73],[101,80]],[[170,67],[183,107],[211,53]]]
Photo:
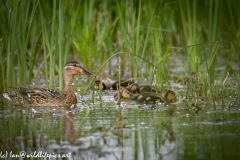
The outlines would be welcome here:
[[[143,93],[143,92],[159,93],[158,89],[151,85],[138,85],[137,83],[132,83],[128,87],[131,88],[134,94]]]

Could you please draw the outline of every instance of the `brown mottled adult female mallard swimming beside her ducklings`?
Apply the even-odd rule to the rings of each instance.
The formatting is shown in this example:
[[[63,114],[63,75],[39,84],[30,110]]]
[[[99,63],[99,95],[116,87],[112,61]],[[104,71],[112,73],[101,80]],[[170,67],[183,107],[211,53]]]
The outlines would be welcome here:
[[[23,85],[18,86],[18,92],[3,93],[3,96],[12,102],[13,105],[27,106],[61,106],[75,105],[77,97],[72,88],[72,78],[74,75],[94,76],[85,70],[78,62],[68,62],[64,66],[64,92],[58,92],[45,88],[28,88]]]

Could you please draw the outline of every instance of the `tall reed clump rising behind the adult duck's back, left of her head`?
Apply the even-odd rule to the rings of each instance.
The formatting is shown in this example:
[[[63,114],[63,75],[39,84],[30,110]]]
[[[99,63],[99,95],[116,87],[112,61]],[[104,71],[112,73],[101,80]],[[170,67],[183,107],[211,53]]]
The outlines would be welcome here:
[[[70,9],[69,13],[64,11],[64,1],[53,1],[52,21],[49,24],[43,9],[39,7],[40,20],[42,24],[42,42],[44,55],[45,77],[49,77],[48,85],[56,88],[56,73],[58,76],[59,88],[63,89],[63,67],[70,59],[70,42],[74,34],[76,13]],[[79,5],[77,5],[79,6]],[[73,9],[73,8],[72,8]],[[65,22],[69,19],[70,23]]]

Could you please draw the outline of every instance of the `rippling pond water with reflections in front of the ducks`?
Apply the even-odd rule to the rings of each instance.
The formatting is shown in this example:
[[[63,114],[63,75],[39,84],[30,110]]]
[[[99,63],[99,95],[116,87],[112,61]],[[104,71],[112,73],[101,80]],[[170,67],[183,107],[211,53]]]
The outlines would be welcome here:
[[[115,105],[112,93],[75,108],[14,107],[1,100],[2,159],[240,159],[240,109]],[[221,108],[221,107],[220,107]],[[24,152],[22,152],[24,151]],[[22,154],[23,158],[19,158]],[[64,158],[65,157],[65,158]]]

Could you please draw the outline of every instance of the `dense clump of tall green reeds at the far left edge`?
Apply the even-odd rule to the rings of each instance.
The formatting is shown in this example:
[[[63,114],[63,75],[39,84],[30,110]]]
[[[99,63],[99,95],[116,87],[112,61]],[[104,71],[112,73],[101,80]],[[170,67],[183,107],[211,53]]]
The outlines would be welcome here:
[[[33,77],[32,66],[36,62],[39,39],[33,21],[38,3],[34,2],[31,5],[27,1],[8,1],[8,3],[1,1],[3,7],[0,12],[2,22],[0,90],[7,90],[8,86],[16,86],[19,82],[29,83]],[[26,72],[27,69],[29,72]]]

